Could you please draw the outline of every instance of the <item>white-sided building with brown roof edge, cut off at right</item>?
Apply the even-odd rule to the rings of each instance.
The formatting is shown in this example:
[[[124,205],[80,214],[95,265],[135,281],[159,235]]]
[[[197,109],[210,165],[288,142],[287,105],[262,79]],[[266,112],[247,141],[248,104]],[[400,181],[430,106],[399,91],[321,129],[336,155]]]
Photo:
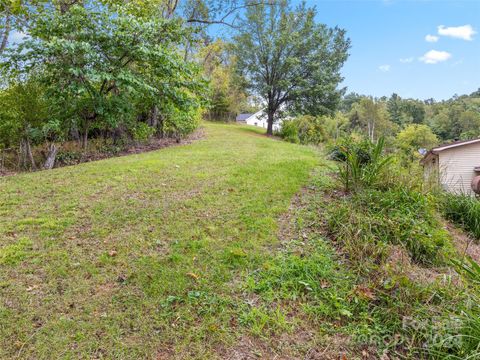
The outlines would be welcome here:
[[[477,183],[480,179],[480,139],[438,146],[421,162],[427,179],[449,192],[473,195],[474,179]]]

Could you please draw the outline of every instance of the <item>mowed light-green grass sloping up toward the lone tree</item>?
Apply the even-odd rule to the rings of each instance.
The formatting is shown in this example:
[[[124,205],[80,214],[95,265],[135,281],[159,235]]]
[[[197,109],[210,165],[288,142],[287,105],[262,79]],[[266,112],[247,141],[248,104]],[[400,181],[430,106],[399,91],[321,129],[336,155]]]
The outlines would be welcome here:
[[[0,358],[211,358],[247,331],[241,294],[319,156],[205,132],[0,179]]]

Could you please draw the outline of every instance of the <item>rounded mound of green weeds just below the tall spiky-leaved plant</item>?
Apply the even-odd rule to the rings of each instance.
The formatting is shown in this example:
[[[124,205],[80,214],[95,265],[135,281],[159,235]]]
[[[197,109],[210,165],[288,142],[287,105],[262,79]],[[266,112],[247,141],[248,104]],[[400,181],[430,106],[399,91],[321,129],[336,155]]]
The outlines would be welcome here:
[[[444,262],[450,238],[431,198],[403,185],[365,189],[328,207],[327,224],[352,260],[381,263],[388,244],[405,248],[413,261]],[[368,268],[364,268],[368,270]]]

